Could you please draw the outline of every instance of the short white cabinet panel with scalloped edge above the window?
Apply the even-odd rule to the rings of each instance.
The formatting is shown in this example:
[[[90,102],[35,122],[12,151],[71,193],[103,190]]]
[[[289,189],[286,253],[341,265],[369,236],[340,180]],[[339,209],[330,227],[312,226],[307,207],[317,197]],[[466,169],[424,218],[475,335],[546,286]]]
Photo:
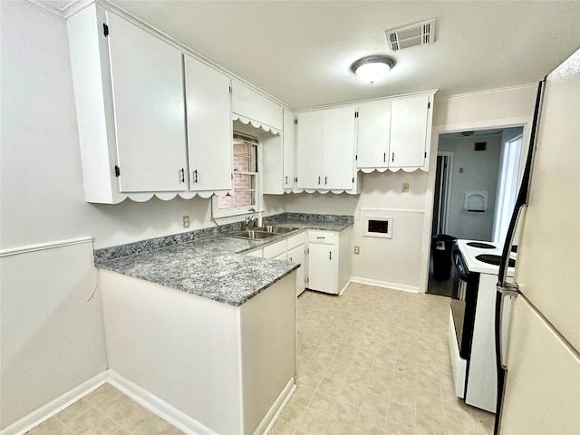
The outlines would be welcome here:
[[[266,131],[274,129],[280,132],[283,129],[282,106],[236,81],[232,81],[232,113],[240,121],[253,121],[255,127]]]

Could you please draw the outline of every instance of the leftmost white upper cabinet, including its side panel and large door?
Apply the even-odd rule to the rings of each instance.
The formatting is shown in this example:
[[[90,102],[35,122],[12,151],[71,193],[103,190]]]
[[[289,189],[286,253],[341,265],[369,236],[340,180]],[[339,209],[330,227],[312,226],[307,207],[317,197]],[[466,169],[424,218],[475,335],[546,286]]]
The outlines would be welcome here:
[[[67,25],[86,199],[187,190],[179,50],[97,5]]]

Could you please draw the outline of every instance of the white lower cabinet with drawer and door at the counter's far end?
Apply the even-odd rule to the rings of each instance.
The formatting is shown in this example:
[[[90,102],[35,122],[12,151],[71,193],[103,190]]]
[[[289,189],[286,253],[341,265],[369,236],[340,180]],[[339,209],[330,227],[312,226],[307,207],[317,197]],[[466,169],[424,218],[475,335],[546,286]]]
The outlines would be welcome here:
[[[308,230],[306,287],[338,295],[351,276],[351,227],[343,231]]]

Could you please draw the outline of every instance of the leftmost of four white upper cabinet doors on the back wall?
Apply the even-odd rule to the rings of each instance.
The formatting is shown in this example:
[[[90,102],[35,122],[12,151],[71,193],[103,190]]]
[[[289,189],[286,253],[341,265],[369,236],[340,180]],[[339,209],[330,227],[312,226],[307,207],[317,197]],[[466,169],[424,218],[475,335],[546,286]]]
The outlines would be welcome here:
[[[298,115],[298,189],[324,189],[324,111]]]

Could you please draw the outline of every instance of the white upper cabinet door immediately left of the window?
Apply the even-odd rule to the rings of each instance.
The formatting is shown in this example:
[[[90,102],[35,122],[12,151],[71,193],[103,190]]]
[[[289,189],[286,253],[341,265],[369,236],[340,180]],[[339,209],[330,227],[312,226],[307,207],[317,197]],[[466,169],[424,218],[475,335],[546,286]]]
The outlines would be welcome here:
[[[232,189],[229,79],[185,55],[189,189]]]

